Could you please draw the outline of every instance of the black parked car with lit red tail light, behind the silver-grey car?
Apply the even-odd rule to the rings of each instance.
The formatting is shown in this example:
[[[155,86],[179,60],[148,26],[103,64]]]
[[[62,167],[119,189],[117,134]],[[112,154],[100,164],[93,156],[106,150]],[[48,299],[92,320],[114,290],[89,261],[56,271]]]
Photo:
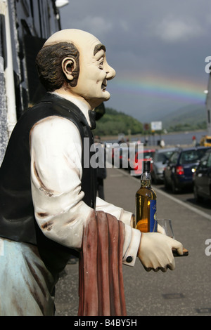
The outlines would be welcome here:
[[[189,147],[176,150],[164,170],[165,188],[172,187],[177,192],[186,187],[193,187],[193,173],[209,147]]]

